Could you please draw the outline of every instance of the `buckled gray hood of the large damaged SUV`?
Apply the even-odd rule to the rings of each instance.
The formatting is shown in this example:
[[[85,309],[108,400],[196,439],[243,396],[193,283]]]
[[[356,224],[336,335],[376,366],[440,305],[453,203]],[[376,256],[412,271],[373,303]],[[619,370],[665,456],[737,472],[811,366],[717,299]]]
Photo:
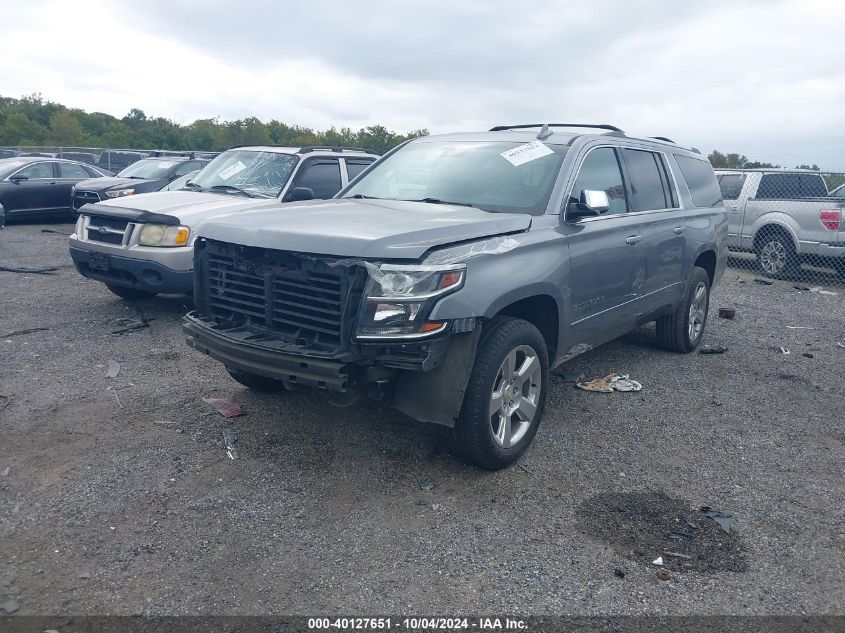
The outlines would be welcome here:
[[[524,231],[531,216],[396,200],[312,200],[203,223],[201,237],[301,253],[419,259],[429,249]]]

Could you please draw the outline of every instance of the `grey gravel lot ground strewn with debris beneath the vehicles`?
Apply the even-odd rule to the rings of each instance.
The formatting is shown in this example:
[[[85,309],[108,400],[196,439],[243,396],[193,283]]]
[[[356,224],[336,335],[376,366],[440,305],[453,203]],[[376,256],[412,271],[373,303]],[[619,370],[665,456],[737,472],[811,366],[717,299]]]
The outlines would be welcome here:
[[[842,285],[729,269],[705,336],[725,354],[644,329],[576,359],[643,391],[554,376],[526,458],[488,473],[390,409],[249,393],[185,346],[183,298],[121,301],[44,229],[71,232],[0,232],[0,265],[59,267],[0,272],[0,603],[18,615],[845,613]],[[48,329],[4,336],[29,328]],[[224,396],[246,415],[202,400]],[[734,513],[730,535],[702,505]],[[691,558],[662,582],[666,551]]]

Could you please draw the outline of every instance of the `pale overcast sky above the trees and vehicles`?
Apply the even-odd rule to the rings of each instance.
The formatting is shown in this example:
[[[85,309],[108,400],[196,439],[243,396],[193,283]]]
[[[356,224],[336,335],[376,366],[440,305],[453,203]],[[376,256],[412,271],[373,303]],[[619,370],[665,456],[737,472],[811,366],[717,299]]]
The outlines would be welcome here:
[[[28,0],[0,94],[405,132],[613,123],[845,170],[845,0]]]

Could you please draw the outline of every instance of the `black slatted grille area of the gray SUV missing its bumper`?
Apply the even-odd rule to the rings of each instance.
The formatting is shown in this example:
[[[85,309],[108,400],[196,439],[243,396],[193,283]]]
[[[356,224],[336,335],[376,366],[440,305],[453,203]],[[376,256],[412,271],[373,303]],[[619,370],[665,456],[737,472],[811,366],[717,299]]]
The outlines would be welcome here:
[[[199,253],[212,316],[272,331],[298,345],[337,348],[348,340],[363,288],[354,269],[212,240]]]

